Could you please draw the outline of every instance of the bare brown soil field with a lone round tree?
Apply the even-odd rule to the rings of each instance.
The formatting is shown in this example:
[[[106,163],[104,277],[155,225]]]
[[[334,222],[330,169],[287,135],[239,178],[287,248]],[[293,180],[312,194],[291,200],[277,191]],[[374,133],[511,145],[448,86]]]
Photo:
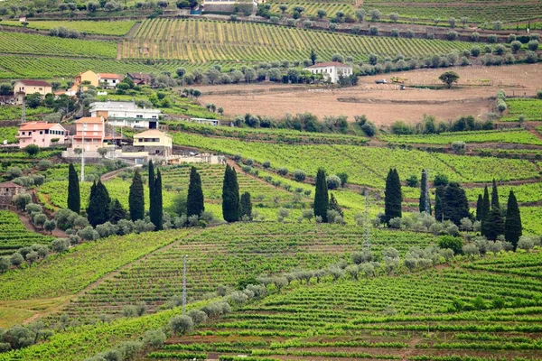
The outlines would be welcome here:
[[[409,87],[442,84],[438,77],[446,70],[450,69],[361,77],[357,87],[340,89],[276,84],[200,87],[204,94],[201,103],[222,106],[229,116],[250,113],[278,118],[310,112],[320,118],[348,116],[349,121],[354,121],[354,116],[366,115],[377,125],[388,125],[396,120],[414,123],[425,114],[440,120],[482,117],[491,111],[490,97],[495,97],[500,88],[509,97],[533,96],[537,88],[542,88],[542,64],[454,68],[460,79],[451,89]],[[406,90],[399,90],[395,84],[374,83],[376,79],[389,82],[392,76],[407,79]]]

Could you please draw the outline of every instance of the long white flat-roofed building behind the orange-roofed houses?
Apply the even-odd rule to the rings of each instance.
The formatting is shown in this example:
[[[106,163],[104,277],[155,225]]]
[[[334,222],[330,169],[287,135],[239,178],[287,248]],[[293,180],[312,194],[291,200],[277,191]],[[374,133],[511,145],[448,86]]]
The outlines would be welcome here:
[[[90,104],[91,116],[103,116],[108,125],[156,129],[162,112],[137,107],[134,101],[95,102]]]

